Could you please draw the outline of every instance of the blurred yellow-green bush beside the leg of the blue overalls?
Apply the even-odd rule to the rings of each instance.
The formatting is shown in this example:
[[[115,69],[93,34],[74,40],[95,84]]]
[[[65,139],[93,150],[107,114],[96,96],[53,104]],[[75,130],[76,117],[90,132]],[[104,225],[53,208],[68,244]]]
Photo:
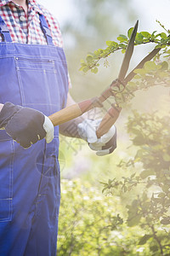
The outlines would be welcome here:
[[[123,224],[118,197],[101,195],[101,191],[81,180],[62,180],[59,213],[58,255],[120,256],[149,254],[138,245],[140,228]]]

